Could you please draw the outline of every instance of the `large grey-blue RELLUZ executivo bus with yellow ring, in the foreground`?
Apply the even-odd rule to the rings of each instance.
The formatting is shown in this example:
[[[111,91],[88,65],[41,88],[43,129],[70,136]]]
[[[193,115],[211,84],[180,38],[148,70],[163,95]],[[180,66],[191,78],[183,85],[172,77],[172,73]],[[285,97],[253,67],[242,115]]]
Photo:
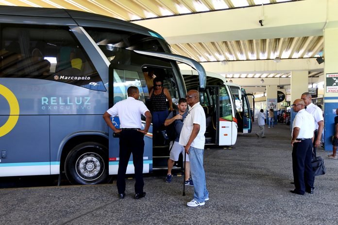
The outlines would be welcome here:
[[[0,177],[65,172],[73,184],[105,182],[119,158],[102,114],[127,88],[138,87],[147,104],[151,72],[176,103],[186,95],[177,61],[199,71],[201,88],[206,80],[201,64],[171,54],[158,33],[65,9],[0,6],[0,57]],[[169,146],[157,147],[151,127],[144,173],[167,164]]]

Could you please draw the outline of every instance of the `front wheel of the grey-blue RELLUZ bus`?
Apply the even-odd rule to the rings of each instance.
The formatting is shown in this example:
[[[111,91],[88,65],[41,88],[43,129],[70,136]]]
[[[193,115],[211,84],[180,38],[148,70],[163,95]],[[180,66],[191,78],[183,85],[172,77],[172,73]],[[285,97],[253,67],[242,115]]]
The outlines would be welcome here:
[[[108,151],[104,145],[86,142],[76,145],[65,161],[71,184],[99,184],[108,178]]]

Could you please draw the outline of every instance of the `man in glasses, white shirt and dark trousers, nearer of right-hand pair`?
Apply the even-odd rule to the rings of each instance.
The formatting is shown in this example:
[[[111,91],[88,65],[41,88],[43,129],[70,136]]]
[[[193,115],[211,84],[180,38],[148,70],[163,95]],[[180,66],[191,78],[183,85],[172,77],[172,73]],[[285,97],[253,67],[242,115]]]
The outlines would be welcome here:
[[[305,111],[305,103],[302,99],[293,102],[292,109],[297,112],[291,133],[292,171],[295,189],[291,193],[304,195],[305,192],[313,193],[312,138],[314,126],[313,116]]]

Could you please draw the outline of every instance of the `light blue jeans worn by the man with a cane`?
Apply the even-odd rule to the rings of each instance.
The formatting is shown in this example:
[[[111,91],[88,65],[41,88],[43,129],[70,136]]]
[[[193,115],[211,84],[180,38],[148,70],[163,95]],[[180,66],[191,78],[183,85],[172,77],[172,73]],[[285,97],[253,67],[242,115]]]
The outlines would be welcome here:
[[[204,149],[191,146],[189,148],[190,174],[194,181],[194,199],[198,202],[204,202],[204,199],[209,197],[205,184],[203,153]]]

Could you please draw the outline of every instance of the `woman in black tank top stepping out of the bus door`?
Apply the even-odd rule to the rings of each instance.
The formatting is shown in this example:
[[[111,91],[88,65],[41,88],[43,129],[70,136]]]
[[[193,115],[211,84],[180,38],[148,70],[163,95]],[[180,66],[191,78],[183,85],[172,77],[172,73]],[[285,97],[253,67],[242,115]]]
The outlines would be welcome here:
[[[153,80],[153,88],[150,91],[150,101],[152,103],[152,134],[156,135],[159,132],[160,126],[164,123],[169,115],[169,110],[172,109],[172,100],[167,88],[163,87],[163,80],[155,78]]]

